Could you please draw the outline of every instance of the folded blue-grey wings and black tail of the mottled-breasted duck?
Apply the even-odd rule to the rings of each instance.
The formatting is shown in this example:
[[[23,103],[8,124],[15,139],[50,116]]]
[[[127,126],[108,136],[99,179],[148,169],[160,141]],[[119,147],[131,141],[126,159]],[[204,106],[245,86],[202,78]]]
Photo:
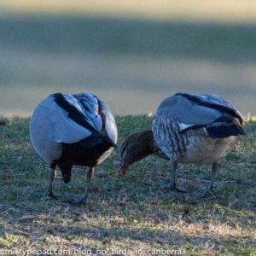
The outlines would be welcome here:
[[[241,113],[223,98],[214,94],[177,93],[160,103],[156,118],[165,116],[180,125],[180,132],[205,126],[210,137],[245,134]]]

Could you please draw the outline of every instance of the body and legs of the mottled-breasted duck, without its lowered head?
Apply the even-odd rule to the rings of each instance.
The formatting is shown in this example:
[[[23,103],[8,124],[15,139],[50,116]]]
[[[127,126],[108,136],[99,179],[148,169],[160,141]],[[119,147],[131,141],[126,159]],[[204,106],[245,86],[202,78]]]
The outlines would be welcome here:
[[[220,162],[230,152],[236,137],[245,135],[245,119],[228,101],[215,94],[177,93],[160,103],[152,121],[158,147],[172,162],[172,181],[167,189],[178,189],[177,164],[212,165],[207,189],[197,195],[213,193]]]

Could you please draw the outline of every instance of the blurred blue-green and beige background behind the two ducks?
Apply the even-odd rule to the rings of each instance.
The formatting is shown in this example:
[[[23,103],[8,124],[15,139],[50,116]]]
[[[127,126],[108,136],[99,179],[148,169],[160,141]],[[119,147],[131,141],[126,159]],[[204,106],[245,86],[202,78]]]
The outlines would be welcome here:
[[[0,114],[54,92],[92,92],[115,114],[176,92],[256,114],[255,0],[1,0]]]

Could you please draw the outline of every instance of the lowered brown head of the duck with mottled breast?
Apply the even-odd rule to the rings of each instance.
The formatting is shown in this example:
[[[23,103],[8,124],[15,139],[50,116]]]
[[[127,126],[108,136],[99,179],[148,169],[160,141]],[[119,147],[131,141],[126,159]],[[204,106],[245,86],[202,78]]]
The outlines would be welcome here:
[[[151,130],[136,132],[127,137],[120,149],[119,175],[125,175],[133,163],[154,154],[153,142]]]

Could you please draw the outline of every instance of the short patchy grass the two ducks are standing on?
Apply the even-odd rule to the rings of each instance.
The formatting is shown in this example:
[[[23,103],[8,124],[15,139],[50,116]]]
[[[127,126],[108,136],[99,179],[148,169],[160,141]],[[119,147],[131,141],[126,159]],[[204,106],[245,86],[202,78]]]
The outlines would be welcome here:
[[[58,172],[55,194],[61,197],[45,198],[49,173],[30,143],[29,119],[5,120],[0,126],[0,254],[256,255],[256,122],[247,123],[247,136],[238,138],[224,160],[214,195],[166,193],[158,182],[170,177],[170,163],[154,156],[119,177],[115,150],[97,166],[87,204],[72,206],[63,201],[83,193],[83,168],[73,168],[69,184]],[[116,121],[119,147],[151,124],[146,115]],[[206,186],[210,175],[210,166],[179,166],[177,182],[192,191]]]

